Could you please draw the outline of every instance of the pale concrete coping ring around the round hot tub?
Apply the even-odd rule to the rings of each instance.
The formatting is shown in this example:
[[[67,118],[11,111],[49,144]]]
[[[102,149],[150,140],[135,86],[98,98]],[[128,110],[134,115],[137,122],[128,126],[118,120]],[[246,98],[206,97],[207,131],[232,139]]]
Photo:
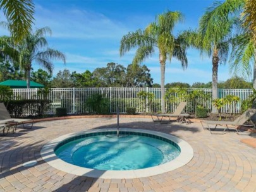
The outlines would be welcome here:
[[[164,172],[173,171],[183,165],[186,165],[193,158],[193,148],[184,140],[180,138],[169,135],[166,133],[161,133],[157,131],[149,131],[145,129],[128,129],[128,128],[120,128],[119,131],[131,131],[137,133],[148,133],[151,135],[161,136],[162,138],[166,138],[168,140],[173,141],[178,144],[180,147],[181,153],[176,157],[176,159],[171,160],[170,162],[166,162],[165,164],[157,165],[155,167],[149,167],[145,169],[136,169],[136,170],[128,170],[128,171],[102,171],[96,169],[88,169],[85,167],[79,167],[77,165],[69,164],[68,162],[64,162],[59,159],[54,152],[54,149],[57,147],[61,141],[66,140],[68,138],[72,138],[78,135],[85,135],[88,133],[98,133],[105,131],[116,131],[116,128],[110,129],[93,129],[88,131],[70,133],[67,135],[59,136],[58,138],[49,141],[42,147],[41,156],[49,165],[52,167],[68,172],[70,174],[75,174],[77,176],[87,176],[87,177],[97,177],[103,179],[132,179],[138,177],[149,177],[155,176],[157,174],[163,174]]]

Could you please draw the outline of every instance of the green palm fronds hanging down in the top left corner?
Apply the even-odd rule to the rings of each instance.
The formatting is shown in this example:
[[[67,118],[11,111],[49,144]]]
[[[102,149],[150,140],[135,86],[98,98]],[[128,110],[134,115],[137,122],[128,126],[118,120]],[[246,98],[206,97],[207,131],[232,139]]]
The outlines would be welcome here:
[[[11,37],[17,43],[32,28],[34,3],[32,0],[0,0],[0,9],[3,9],[9,23]]]

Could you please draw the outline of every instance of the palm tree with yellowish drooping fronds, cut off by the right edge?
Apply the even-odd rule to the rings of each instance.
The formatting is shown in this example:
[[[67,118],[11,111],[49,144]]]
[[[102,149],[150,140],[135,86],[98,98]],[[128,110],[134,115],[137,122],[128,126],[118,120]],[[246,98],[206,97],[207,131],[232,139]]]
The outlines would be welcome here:
[[[240,15],[243,11],[240,22],[236,23],[239,30],[231,39],[232,52],[229,64],[235,75],[242,71],[244,76],[252,74],[252,64],[253,88],[256,88],[256,4],[252,0],[227,0],[219,9],[225,16]]]

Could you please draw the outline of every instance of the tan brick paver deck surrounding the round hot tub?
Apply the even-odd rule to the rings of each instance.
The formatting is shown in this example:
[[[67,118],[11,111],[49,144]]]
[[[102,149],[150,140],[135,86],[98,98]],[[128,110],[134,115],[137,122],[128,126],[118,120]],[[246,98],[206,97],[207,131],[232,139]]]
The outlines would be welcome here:
[[[116,126],[116,118],[64,119],[36,123],[0,137],[0,191],[256,191],[256,150],[241,143],[250,136],[210,135],[199,123],[153,123],[121,118],[121,127],[152,129],[192,145],[193,159],[183,167],[152,177],[97,179],[59,171],[40,157],[47,141],[76,131]],[[23,163],[37,160],[32,167]],[[125,177],[125,176],[124,176]]]

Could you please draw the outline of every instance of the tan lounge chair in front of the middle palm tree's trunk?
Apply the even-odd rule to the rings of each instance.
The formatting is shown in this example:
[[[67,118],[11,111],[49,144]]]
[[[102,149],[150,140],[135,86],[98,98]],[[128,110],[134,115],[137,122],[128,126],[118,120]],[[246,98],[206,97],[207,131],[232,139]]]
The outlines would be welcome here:
[[[171,121],[171,117],[176,117],[176,121],[179,123],[186,123],[189,124],[190,120],[187,118],[190,116],[190,114],[187,113],[181,113],[183,109],[186,106],[186,102],[180,102],[176,110],[173,112],[173,114],[151,114],[152,120],[154,122],[160,122],[160,123],[168,123]],[[154,119],[154,116],[157,117],[157,119]],[[164,120],[164,117],[168,117],[168,120]]]

